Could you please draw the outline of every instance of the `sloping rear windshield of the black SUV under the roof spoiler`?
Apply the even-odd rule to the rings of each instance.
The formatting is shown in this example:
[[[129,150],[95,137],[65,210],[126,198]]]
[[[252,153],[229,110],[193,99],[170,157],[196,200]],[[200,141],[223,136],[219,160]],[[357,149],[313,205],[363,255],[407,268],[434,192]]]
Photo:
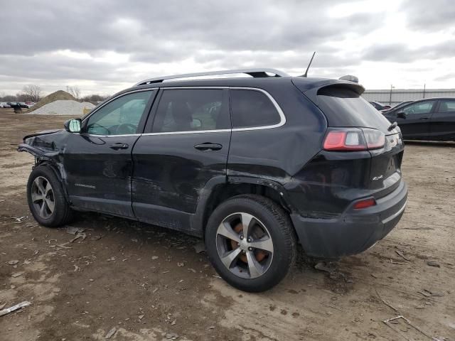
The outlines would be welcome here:
[[[353,90],[323,87],[318,92],[318,105],[326,115],[328,126],[361,126],[387,131],[390,122]]]

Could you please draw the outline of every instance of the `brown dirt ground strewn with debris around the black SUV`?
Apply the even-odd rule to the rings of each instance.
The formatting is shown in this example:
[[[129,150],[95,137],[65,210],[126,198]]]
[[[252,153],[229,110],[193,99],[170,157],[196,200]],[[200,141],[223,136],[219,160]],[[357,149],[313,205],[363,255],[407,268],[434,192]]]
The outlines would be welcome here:
[[[86,238],[70,242],[36,224],[33,157],[16,146],[65,119],[0,109],[0,308],[31,301],[0,317],[0,340],[106,340],[112,328],[109,340],[455,340],[455,144],[407,143],[407,209],[372,249],[331,273],[299,256],[279,286],[249,294],[185,234],[84,213],[71,226]],[[410,324],[382,322],[398,315]]]

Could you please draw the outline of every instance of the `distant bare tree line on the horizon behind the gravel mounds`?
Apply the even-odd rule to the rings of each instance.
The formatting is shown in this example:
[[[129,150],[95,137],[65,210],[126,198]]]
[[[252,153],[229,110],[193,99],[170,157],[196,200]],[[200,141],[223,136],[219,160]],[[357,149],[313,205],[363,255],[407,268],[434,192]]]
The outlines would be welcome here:
[[[67,86],[66,92],[72,94],[73,97],[80,102],[91,102],[93,104],[102,102],[109,97],[101,94],[88,94],[81,97],[80,88],[77,87],[77,85]],[[22,91],[18,92],[16,95],[0,92],[0,102],[38,102],[43,97],[43,89],[39,85],[26,85],[23,87]]]

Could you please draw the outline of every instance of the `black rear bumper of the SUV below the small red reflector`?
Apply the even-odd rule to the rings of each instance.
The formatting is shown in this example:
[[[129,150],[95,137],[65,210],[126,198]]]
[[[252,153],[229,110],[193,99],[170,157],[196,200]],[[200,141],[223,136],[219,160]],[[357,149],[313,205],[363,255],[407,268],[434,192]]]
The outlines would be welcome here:
[[[332,219],[314,219],[291,215],[296,233],[309,256],[337,259],[358,254],[384,238],[400,221],[407,203],[407,185],[376,200],[377,205],[353,210]]]

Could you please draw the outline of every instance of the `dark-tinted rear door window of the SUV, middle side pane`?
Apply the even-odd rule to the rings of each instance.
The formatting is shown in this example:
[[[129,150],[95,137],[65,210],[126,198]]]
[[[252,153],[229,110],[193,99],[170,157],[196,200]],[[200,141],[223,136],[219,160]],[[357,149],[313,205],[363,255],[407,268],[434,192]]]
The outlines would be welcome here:
[[[222,89],[164,90],[153,132],[230,129],[226,98]]]

